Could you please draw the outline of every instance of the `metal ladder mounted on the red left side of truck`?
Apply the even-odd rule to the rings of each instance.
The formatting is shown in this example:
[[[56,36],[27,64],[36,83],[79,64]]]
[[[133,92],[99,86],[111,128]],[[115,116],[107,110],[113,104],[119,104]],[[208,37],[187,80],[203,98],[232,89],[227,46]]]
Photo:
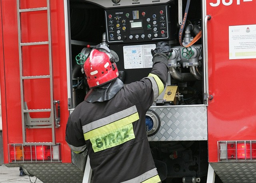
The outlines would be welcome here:
[[[50,0],[47,1],[47,7],[42,8],[28,8],[20,9],[20,0],[17,0],[17,14],[18,14],[18,44],[19,44],[19,63],[20,63],[20,92],[21,92],[21,111],[22,111],[22,138],[23,145],[55,145],[55,123],[57,119],[54,120],[54,115],[56,114],[55,104],[59,101],[53,100],[53,76],[52,76],[52,53],[51,53],[51,35],[50,35]],[[47,24],[48,24],[48,41],[43,42],[22,42],[21,40],[21,21],[20,16],[23,12],[36,12],[36,11],[47,11]],[[22,47],[23,46],[34,46],[34,45],[44,45],[48,44],[49,48],[49,75],[44,76],[23,76],[23,66],[22,66]],[[50,80],[50,109],[28,109],[26,101],[24,101],[24,80],[34,80],[34,79],[44,79],[49,78]],[[40,81],[40,80],[39,80]],[[59,109],[59,106],[58,106]],[[31,118],[30,113],[32,112],[50,112],[50,117],[48,118]],[[34,125],[32,121],[40,121],[40,125]],[[56,127],[59,127],[56,123]],[[27,142],[26,141],[26,129],[27,128],[51,128],[52,129],[52,142]]]

